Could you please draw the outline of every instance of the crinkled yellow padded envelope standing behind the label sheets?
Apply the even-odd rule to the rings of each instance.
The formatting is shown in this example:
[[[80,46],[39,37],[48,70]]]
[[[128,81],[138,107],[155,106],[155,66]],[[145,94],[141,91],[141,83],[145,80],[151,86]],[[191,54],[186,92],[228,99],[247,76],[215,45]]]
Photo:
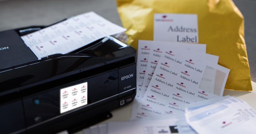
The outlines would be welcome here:
[[[117,0],[117,10],[129,45],[153,40],[154,13],[186,13],[198,16],[199,43],[207,53],[219,56],[219,65],[230,69],[225,89],[252,91],[244,39],[242,13],[231,0]]]

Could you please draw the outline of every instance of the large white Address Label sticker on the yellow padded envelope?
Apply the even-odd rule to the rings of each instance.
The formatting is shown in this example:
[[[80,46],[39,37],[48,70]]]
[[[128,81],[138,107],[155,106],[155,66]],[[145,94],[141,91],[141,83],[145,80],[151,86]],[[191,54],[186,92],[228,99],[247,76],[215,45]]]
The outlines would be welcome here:
[[[155,13],[154,40],[198,43],[197,14]]]

